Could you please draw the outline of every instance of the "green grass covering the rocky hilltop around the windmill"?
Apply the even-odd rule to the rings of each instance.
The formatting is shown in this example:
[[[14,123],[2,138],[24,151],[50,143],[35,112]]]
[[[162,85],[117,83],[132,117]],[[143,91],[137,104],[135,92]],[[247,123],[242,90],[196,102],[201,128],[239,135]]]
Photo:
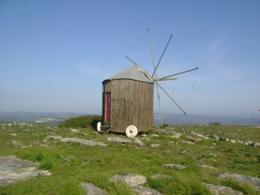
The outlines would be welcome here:
[[[226,185],[244,194],[259,194],[250,185],[218,178],[219,174],[224,172],[260,178],[259,148],[213,139],[199,141],[192,145],[182,142],[187,137],[194,137],[190,132],[214,134],[241,141],[259,141],[260,129],[257,127],[165,126],[167,130],[181,132],[183,136],[174,139],[170,134],[158,134],[159,137],[142,140],[146,146],[139,148],[132,143],[107,141],[107,137],[115,135],[98,134],[93,130],[92,120],[96,118],[88,118],[86,123],[89,125],[84,128],[79,123],[76,127],[79,132],[69,130],[70,127],[75,128],[73,120],[73,123],[71,120],[66,121],[59,127],[12,125],[5,126],[3,130],[1,128],[3,126],[0,126],[0,156],[15,155],[20,159],[39,162],[40,169],[52,173],[52,176],[37,176],[14,185],[0,187],[0,194],[84,194],[80,186],[81,182],[91,182],[108,194],[131,194],[130,188],[121,182],[108,182],[109,178],[120,173],[146,176],[147,182],[144,186],[156,189],[162,194],[211,194],[201,182]],[[17,137],[10,135],[14,133]],[[153,130],[148,132],[148,135],[151,134],[155,132]],[[109,146],[82,146],[61,141],[43,142],[48,135],[102,141]],[[124,137],[123,134],[116,134],[116,136]],[[137,137],[142,138],[140,135]],[[13,146],[12,140],[20,141],[28,147]],[[158,143],[160,146],[151,148],[152,143]],[[163,164],[171,163],[185,165],[187,169],[176,170],[163,167]],[[208,169],[202,165],[212,166],[215,169]],[[155,174],[172,178],[155,180],[151,178]]]

